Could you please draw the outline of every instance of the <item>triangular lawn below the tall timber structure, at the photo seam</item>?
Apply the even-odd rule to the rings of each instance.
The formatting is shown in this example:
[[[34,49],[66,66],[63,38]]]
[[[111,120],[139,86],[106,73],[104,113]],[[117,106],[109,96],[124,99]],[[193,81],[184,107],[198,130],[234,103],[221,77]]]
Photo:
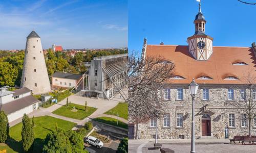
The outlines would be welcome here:
[[[104,114],[109,114],[109,115],[119,115],[119,117],[122,117],[124,119],[128,119],[128,104],[127,103],[118,103],[116,107],[113,109],[105,112]]]

